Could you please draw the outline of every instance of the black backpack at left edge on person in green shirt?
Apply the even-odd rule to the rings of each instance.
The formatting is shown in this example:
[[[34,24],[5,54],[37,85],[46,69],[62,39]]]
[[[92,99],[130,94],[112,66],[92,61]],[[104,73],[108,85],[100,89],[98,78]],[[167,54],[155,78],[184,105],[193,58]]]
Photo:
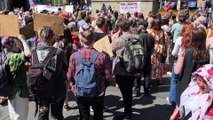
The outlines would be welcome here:
[[[12,83],[9,75],[8,59],[0,65],[0,96],[8,97],[12,91]]]

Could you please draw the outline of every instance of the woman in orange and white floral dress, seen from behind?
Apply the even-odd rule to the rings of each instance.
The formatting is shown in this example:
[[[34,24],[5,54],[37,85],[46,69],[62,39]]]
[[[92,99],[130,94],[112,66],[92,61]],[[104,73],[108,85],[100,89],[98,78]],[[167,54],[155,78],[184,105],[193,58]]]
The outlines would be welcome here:
[[[152,63],[152,78],[157,81],[158,85],[162,84],[163,74],[166,73],[166,66],[164,64],[163,54],[167,55],[168,53],[168,35],[161,29],[161,21],[154,20],[152,22],[152,27],[150,34],[155,39],[155,48],[151,57]],[[167,55],[168,56],[168,55]]]

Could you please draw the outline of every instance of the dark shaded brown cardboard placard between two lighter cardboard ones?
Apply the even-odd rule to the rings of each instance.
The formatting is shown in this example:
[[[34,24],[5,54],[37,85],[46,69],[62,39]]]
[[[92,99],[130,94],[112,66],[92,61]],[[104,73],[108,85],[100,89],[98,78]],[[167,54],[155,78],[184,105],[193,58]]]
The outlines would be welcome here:
[[[30,23],[24,26],[23,28],[20,28],[20,34],[24,35],[26,40],[31,37],[34,37],[36,36],[36,34],[33,28],[34,28],[33,23]]]

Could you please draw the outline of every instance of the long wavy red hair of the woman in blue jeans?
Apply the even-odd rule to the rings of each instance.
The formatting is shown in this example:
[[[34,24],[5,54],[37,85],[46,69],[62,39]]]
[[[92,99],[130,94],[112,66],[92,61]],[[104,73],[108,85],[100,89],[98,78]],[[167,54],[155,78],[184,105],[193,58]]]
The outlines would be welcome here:
[[[190,47],[191,42],[192,42],[192,29],[194,28],[193,24],[186,22],[183,25],[182,31],[181,31],[181,36],[182,36],[182,41],[181,41],[181,47],[184,49],[187,49]]]

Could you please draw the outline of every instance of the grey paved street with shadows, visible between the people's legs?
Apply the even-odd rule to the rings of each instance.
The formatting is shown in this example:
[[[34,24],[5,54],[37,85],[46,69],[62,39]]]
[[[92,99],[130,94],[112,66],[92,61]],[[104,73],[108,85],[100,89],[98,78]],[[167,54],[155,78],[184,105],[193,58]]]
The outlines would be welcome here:
[[[172,108],[167,104],[166,97],[169,91],[169,78],[163,80],[163,85],[157,87],[154,81],[151,83],[152,93],[150,96],[134,97],[133,100],[133,120],[168,120],[172,113]],[[143,91],[143,89],[142,89]],[[79,113],[76,103],[72,95],[70,95],[69,104],[72,109],[70,111],[64,110],[65,120],[78,120]],[[34,103],[29,103],[28,120],[35,120],[34,118]],[[122,98],[118,88],[107,88],[105,105],[109,108],[104,113],[105,120],[117,120],[116,116],[122,115]],[[0,120],[10,120],[7,107],[0,107]]]

